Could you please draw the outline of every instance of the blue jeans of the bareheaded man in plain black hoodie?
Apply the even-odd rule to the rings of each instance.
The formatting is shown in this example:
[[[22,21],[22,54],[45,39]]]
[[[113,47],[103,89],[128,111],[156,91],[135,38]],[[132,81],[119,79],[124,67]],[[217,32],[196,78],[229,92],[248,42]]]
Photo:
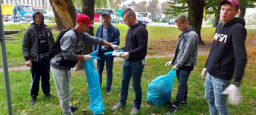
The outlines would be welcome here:
[[[120,103],[125,104],[128,96],[129,82],[132,77],[132,87],[135,91],[135,98],[133,100],[134,107],[140,108],[142,100],[142,90],[141,90],[141,75],[143,72],[144,65],[142,65],[141,60],[129,62],[127,59],[124,60],[123,64],[123,76],[122,76],[122,86],[121,86],[121,97]]]

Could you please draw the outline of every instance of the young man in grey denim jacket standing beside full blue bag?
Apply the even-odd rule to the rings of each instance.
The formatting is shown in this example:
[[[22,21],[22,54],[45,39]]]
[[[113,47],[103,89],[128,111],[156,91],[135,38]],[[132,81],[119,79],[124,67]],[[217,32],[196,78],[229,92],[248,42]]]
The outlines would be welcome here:
[[[167,62],[165,66],[174,65],[173,69],[176,70],[179,86],[176,99],[167,114],[173,114],[179,104],[187,104],[187,81],[197,61],[198,35],[196,29],[189,26],[188,19],[185,16],[179,16],[175,22],[182,33],[179,35],[173,59]]]

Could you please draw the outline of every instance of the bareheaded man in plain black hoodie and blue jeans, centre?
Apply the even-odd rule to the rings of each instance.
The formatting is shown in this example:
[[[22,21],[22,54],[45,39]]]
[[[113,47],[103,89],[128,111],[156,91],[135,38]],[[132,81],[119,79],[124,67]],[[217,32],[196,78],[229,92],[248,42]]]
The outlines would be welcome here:
[[[132,77],[132,86],[135,91],[133,100],[134,107],[130,114],[136,114],[140,110],[142,100],[141,76],[146,62],[148,44],[148,31],[146,25],[137,21],[135,12],[127,8],[122,13],[124,24],[130,27],[125,38],[125,47],[121,48],[124,52],[120,52],[121,58],[124,58],[123,76],[121,86],[120,103],[115,105],[112,110],[124,107],[127,95],[129,82]]]

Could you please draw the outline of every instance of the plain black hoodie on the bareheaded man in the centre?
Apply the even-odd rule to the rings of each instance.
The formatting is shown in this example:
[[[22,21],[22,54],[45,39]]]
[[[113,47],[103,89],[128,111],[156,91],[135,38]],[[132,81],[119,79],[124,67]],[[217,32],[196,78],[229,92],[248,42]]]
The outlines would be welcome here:
[[[148,31],[146,25],[138,22],[127,30],[124,52],[128,52],[128,61],[138,61],[147,55]]]

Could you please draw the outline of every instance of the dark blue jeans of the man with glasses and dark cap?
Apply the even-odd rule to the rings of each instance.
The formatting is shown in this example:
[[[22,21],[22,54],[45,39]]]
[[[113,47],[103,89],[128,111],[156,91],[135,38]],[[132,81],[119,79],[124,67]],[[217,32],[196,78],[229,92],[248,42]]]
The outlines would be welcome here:
[[[105,56],[105,52],[99,51],[98,52],[98,57],[100,57],[100,60],[97,59],[97,68],[98,68],[98,73],[100,75],[100,86],[102,82],[102,72],[104,69],[105,61],[106,61],[106,70],[107,70],[107,83],[106,83],[106,89],[111,89],[112,85],[112,79],[113,79],[113,61],[114,61],[114,56]]]

